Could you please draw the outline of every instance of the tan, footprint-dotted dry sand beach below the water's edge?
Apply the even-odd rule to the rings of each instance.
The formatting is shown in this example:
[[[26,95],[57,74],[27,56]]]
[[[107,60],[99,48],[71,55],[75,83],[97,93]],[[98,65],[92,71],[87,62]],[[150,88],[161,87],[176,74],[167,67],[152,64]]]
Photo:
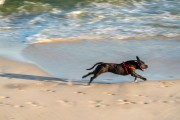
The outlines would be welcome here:
[[[180,120],[179,86],[180,80],[85,86],[1,58],[0,120]]]

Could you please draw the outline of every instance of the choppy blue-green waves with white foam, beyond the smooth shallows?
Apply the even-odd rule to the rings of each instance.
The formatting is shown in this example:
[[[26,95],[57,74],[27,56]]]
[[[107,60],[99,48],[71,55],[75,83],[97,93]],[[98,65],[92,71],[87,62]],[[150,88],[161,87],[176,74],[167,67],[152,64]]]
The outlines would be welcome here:
[[[179,4],[179,0],[7,0],[0,6],[0,29],[16,29],[25,42],[52,37],[179,37]]]

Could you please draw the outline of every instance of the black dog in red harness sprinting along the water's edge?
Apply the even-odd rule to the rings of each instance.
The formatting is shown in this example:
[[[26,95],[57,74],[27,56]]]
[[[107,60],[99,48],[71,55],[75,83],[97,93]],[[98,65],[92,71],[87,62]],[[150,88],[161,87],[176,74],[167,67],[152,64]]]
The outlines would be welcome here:
[[[84,75],[82,78],[85,78],[89,75],[94,75],[91,77],[88,85],[91,84],[91,82],[100,74],[105,73],[105,72],[111,72],[114,74],[119,74],[119,75],[131,75],[135,77],[134,81],[136,82],[137,78],[143,79],[146,81],[146,78],[138,75],[135,73],[136,69],[144,71],[144,69],[148,68],[148,65],[146,65],[143,61],[139,59],[138,56],[136,56],[137,60],[130,60],[126,61],[120,64],[114,64],[114,63],[103,63],[103,62],[98,62],[96,63],[92,68],[89,68],[87,70],[93,69],[96,65],[98,65],[93,72],[90,72],[86,75]]]

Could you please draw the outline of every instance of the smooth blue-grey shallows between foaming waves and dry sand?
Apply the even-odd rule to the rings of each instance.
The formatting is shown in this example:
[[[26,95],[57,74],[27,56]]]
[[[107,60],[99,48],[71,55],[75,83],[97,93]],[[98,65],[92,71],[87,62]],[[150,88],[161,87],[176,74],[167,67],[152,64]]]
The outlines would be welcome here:
[[[56,39],[61,40],[60,38]],[[53,38],[48,40],[53,41]],[[10,59],[35,64],[48,74],[58,78],[76,79],[76,81],[81,81],[82,75],[88,72],[85,69],[96,62],[120,63],[126,60],[133,60],[136,55],[139,55],[139,57],[151,67],[149,67],[146,72],[141,73],[141,71],[137,71],[137,73],[139,72],[139,74],[151,80],[173,80],[180,78],[178,74],[180,66],[178,64],[178,40],[171,40],[172,39],[167,39],[165,41],[132,40],[131,42],[126,40],[84,40],[70,43],[52,42],[28,45],[21,43],[22,46],[19,43],[17,46],[16,43],[9,42],[5,47],[2,47],[0,54]],[[147,44],[150,46],[146,46]],[[13,48],[9,48],[8,45],[13,45]],[[120,46],[123,46],[123,48],[120,48]],[[129,47],[137,47],[137,49],[130,50],[128,49]],[[155,55],[153,55],[151,53],[152,51],[159,52],[155,52]],[[119,77],[112,74],[104,74],[96,79],[98,83],[101,81],[118,83],[122,80],[123,82],[131,81],[129,77]]]

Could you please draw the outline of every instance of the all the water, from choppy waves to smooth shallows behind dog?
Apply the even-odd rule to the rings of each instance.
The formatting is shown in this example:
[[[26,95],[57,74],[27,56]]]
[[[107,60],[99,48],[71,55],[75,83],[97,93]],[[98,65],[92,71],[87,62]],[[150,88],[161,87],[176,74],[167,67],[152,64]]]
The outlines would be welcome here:
[[[5,0],[0,56],[36,64],[73,81],[96,62],[139,56],[149,80],[180,78],[179,0]],[[111,73],[95,82],[131,81]]]

